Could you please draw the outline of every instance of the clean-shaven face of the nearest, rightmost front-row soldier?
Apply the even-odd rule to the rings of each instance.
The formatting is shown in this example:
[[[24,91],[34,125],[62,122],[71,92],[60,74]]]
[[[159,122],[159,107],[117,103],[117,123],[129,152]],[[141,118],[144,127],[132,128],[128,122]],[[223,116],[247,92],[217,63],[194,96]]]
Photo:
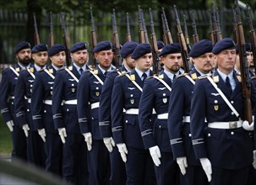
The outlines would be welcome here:
[[[214,59],[217,62],[218,69],[228,75],[233,70],[236,64],[236,50],[221,50],[220,53],[215,55]]]

